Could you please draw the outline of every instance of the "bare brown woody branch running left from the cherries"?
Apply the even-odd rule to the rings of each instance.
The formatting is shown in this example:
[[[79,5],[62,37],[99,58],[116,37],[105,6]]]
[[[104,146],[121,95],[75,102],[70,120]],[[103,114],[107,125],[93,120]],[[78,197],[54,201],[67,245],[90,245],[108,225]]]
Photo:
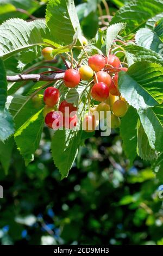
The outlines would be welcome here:
[[[54,73],[52,75],[46,76],[41,74],[28,74],[28,75],[21,75],[18,74],[16,76],[7,76],[8,82],[21,82],[21,81],[56,81],[64,78],[65,72],[61,73]]]

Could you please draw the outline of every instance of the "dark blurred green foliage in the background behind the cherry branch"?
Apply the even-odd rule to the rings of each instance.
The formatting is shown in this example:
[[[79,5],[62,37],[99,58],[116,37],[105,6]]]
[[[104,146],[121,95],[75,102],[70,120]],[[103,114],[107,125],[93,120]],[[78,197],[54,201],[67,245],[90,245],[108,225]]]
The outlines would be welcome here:
[[[29,14],[44,17],[46,2],[0,1],[0,22],[10,17],[30,19]],[[75,2],[80,4],[77,10],[83,32],[92,38],[98,28],[99,1]],[[111,13],[124,2],[108,1]],[[28,167],[16,147],[9,174],[0,166],[2,245],[163,245],[161,184],[147,162],[137,158],[129,166],[116,131],[109,137],[99,137],[96,132],[87,140],[70,175],[62,181],[50,144],[45,128],[40,149]]]

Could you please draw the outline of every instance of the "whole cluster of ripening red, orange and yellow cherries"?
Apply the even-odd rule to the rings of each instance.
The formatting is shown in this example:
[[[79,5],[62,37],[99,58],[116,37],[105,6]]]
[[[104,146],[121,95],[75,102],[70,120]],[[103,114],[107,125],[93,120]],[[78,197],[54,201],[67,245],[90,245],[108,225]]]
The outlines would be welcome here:
[[[46,48],[45,48],[46,49]],[[43,50],[44,52],[45,49]],[[42,52],[43,53],[43,52]],[[45,55],[44,55],[45,56]],[[46,57],[46,56],[45,56]],[[118,90],[118,72],[127,71],[123,68],[120,59],[110,54],[109,57],[104,57],[100,54],[95,54],[88,59],[88,65],[82,65],[79,69],[67,69],[64,75],[64,83],[68,88],[77,87],[81,80],[91,81],[93,78],[94,84],[90,83],[90,95],[95,101],[101,102],[98,105],[92,106],[83,119],[85,124],[84,130],[92,132],[96,129],[97,120],[95,112],[100,113],[111,111],[111,128],[117,128],[121,124],[121,117],[123,117],[128,110],[128,104],[122,98]],[[43,114],[45,116],[45,123],[48,127],[54,130],[61,126],[66,129],[75,127],[78,122],[77,107],[66,100],[62,101],[58,107],[60,93],[57,88],[48,87],[43,95],[43,100],[46,104]],[[68,113],[66,109],[68,108]],[[63,118],[64,117],[64,118]],[[63,121],[61,121],[63,120]],[[89,127],[92,127],[90,129]]]

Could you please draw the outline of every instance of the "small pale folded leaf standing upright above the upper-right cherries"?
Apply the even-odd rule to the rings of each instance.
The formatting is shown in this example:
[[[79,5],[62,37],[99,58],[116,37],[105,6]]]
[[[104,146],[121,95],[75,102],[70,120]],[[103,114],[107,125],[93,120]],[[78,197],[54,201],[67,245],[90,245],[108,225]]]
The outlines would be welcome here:
[[[116,23],[107,28],[106,31],[106,56],[108,56],[112,42],[116,39],[117,35],[124,30],[125,23]]]

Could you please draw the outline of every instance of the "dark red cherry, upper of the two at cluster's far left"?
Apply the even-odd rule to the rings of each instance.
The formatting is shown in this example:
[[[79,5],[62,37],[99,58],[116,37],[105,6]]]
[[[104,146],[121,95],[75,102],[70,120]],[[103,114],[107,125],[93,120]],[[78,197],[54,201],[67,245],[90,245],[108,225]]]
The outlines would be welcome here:
[[[48,87],[43,94],[43,101],[49,107],[53,107],[59,100],[59,90],[54,87]]]

